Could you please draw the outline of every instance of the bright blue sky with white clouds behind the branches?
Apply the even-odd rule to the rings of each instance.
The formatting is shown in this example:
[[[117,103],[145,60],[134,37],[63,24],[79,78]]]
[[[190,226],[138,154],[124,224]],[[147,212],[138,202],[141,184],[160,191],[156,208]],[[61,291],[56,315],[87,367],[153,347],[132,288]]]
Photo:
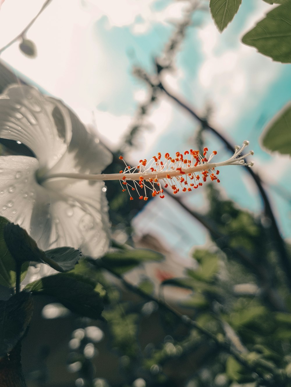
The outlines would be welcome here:
[[[21,0],[8,0],[0,12],[0,46],[13,38],[38,12],[39,1],[29,7]],[[2,59],[44,90],[61,98],[84,122],[97,123],[101,139],[116,148],[132,122],[138,101],[146,98],[146,87],[132,76],[132,66],[148,71],[153,59],[168,41],[175,21],[188,2],[156,0],[52,1],[31,27],[27,36],[35,41],[38,55],[24,57],[17,44],[2,54]],[[282,65],[263,57],[254,48],[242,45],[241,36],[255,21],[262,19],[270,5],[262,0],[244,0],[234,21],[218,33],[210,13],[197,11],[196,26],[188,29],[177,55],[176,70],[165,77],[168,87],[188,101],[201,115],[212,107],[210,122],[229,139],[241,144],[251,141],[253,157],[263,180],[291,190],[290,159],[270,156],[259,144],[265,124],[290,100],[291,65]],[[15,9],[19,10],[17,14]],[[189,147],[196,124],[167,98],[161,98],[148,118],[152,130],[140,137],[138,150],[129,159],[149,158],[158,151],[176,152]],[[209,148],[224,156],[222,145],[206,136]],[[218,156],[219,157],[219,156]],[[239,167],[221,171],[225,196],[258,212],[261,203],[256,189]],[[184,197],[195,209],[205,207],[203,191]],[[291,236],[289,204],[272,194],[272,203],[280,216],[285,236]],[[158,219],[156,213],[161,214]],[[165,228],[165,217],[172,226]],[[183,252],[204,244],[206,234],[186,214],[175,209],[170,199],[163,204],[152,201],[135,221],[137,233],[154,229],[171,241],[173,248],[181,234],[173,226],[187,225]],[[148,230],[146,229],[148,228]],[[193,230],[193,231],[192,231]]]

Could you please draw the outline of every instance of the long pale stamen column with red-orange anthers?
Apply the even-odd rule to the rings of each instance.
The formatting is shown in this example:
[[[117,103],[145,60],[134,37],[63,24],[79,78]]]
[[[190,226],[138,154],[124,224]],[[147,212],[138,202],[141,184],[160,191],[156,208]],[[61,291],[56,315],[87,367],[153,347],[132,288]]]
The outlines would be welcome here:
[[[140,200],[147,200],[148,193],[152,196],[159,195],[163,199],[165,195],[163,195],[162,185],[164,188],[170,187],[173,194],[189,192],[202,186],[207,179],[219,183],[219,170],[217,168],[227,165],[253,166],[252,161],[245,161],[247,156],[254,154],[253,151],[240,156],[248,145],[249,142],[244,141],[242,146],[235,147],[231,158],[218,163],[212,162],[213,157],[217,155],[217,151],[213,151],[208,158],[208,148],[205,147],[202,154],[197,150],[190,149],[184,153],[176,152],[175,157],[171,157],[169,153],[166,153],[163,159],[159,152],[150,161],[140,160],[135,167],[127,165],[123,157],[120,156],[120,159],[125,163],[125,168],[120,170],[119,173],[100,175],[55,173],[42,176],[41,180],[59,177],[104,181],[119,180],[122,191],[128,192],[130,200],[133,200],[133,192],[137,193]]]

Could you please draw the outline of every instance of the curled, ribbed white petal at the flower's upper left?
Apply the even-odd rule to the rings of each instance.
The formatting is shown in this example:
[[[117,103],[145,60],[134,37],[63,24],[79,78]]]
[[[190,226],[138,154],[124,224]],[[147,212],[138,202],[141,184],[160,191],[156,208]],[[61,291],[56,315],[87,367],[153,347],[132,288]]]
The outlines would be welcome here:
[[[0,98],[0,137],[23,142],[50,169],[71,140],[69,110],[34,87],[11,86]]]

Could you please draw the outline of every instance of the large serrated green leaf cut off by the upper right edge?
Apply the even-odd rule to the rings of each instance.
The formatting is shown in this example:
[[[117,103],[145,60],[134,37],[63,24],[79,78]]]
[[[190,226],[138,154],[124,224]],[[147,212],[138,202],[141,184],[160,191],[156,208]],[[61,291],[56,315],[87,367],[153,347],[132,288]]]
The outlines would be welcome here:
[[[266,15],[242,38],[260,53],[282,63],[291,62],[291,2],[284,2]]]

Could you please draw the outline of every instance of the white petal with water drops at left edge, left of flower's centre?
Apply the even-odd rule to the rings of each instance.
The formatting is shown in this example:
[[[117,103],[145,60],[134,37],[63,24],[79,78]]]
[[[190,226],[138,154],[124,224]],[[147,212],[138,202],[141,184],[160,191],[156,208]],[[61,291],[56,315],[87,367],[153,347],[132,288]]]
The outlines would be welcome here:
[[[0,215],[40,238],[49,211],[49,195],[35,179],[38,161],[26,156],[0,156]],[[37,214],[31,233],[31,216]]]

